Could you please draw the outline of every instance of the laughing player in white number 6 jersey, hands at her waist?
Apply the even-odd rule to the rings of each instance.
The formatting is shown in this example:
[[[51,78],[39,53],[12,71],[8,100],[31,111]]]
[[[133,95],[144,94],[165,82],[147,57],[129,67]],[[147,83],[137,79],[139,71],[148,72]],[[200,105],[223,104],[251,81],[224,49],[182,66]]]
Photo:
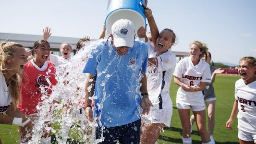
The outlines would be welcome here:
[[[206,129],[206,114],[202,90],[211,82],[209,64],[201,60],[207,54],[207,46],[199,41],[190,44],[189,57],[177,63],[173,73],[174,83],[180,87],[177,92],[177,108],[182,123],[183,144],[192,144],[190,133],[190,109],[195,116],[202,144],[215,144]]]

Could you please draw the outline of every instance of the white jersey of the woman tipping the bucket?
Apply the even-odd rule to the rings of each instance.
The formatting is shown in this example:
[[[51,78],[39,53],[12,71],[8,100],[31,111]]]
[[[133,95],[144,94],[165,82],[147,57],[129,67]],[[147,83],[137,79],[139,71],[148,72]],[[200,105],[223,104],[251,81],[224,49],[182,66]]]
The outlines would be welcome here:
[[[171,51],[167,51],[160,56],[154,46],[148,41],[148,58],[157,58],[157,67],[147,67],[147,91],[149,99],[155,108],[163,109],[172,107],[169,88],[172,73],[176,66],[176,57]]]

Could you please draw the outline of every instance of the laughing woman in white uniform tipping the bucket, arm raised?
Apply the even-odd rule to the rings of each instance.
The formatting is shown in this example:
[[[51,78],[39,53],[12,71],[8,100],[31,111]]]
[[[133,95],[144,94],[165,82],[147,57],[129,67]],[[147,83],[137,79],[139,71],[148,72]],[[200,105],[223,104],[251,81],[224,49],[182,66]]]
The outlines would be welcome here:
[[[148,46],[147,91],[154,107],[148,115],[143,115],[149,122],[143,124],[145,131],[141,132],[141,143],[155,144],[164,126],[171,125],[172,101],[169,90],[176,66],[176,57],[171,52],[171,47],[175,43],[176,35],[168,28],[159,33],[149,8],[146,8],[145,15],[152,36],[152,43],[150,39],[145,41]],[[140,27],[137,33],[140,38],[146,38],[146,30],[143,27]]]

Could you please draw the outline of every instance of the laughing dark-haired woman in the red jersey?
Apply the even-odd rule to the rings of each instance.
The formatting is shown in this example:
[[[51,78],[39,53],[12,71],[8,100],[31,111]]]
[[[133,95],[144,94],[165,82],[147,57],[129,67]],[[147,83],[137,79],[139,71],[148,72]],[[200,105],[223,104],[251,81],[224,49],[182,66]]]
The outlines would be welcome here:
[[[37,115],[37,104],[42,102],[43,95],[51,94],[52,85],[57,83],[55,79],[55,67],[47,61],[50,54],[50,45],[46,40],[37,40],[33,46],[35,58],[29,60],[24,66],[26,77],[23,78],[22,97],[18,108],[26,115]],[[51,84],[49,84],[49,82]],[[44,94],[41,88],[44,87]],[[50,126],[50,123],[47,124]],[[19,127],[21,144],[27,144],[31,139],[33,127]],[[41,144],[50,144],[50,132],[43,130]]]

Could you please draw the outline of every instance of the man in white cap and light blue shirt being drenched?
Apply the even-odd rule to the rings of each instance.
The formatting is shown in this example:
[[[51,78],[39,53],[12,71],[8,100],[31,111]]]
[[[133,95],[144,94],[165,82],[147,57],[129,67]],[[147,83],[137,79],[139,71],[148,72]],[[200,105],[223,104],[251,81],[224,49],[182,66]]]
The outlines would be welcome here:
[[[111,27],[111,41],[91,50],[84,73],[85,116],[98,121],[96,139],[100,144],[139,144],[141,114],[148,114],[152,104],[146,89],[148,48],[134,41],[134,24],[126,19]],[[97,93],[95,113],[92,96]],[[103,137],[102,137],[103,136]]]

